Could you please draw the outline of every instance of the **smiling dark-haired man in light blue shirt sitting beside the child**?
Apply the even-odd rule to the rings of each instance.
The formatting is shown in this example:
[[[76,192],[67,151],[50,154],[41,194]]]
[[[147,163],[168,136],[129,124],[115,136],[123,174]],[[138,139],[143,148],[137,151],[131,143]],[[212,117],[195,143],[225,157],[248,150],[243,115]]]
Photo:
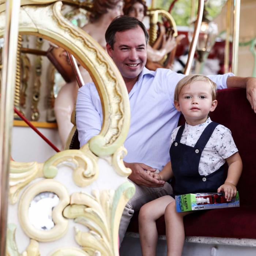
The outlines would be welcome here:
[[[139,20],[120,16],[106,30],[106,48],[123,76],[131,107],[131,125],[124,146],[124,158],[131,168],[129,179],[135,184],[135,196],[128,202],[121,219],[120,243],[134,211],[159,196],[172,193],[170,184],[158,181],[144,170],[162,170],[169,161],[170,135],[177,127],[180,113],[173,97],[177,82],[184,77],[170,69],[149,71],[147,60],[148,34]],[[256,112],[256,79],[234,77],[232,73],[210,76],[218,89],[246,87],[248,99]],[[76,103],[76,124],[80,146],[97,135],[102,125],[102,108],[93,83],[79,89]],[[88,121],[90,120],[90,121]]]

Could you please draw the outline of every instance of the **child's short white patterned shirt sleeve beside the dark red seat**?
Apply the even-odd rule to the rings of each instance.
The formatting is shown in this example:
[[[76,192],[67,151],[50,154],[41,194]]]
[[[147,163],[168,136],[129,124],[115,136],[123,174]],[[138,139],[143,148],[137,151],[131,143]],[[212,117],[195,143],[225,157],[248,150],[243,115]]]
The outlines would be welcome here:
[[[231,131],[227,127],[218,125],[215,128],[214,138],[216,150],[223,159],[230,157],[238,151]]]

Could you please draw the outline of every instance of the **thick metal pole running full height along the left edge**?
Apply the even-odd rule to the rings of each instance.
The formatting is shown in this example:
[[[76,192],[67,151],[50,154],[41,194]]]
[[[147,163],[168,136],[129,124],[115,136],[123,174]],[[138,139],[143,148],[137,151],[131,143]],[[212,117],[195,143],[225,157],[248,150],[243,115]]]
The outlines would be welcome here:
[[[20,0],[7,0],[5,10],[3,69],[0,99],[0,256],[6,255],[6,229],[9,190],[10,146],[15,92]]]

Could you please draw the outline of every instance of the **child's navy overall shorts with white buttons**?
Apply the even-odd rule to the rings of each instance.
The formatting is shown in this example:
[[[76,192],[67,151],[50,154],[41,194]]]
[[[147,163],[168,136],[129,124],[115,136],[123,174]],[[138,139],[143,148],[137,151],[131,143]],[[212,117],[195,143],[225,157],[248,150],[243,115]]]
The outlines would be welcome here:
[[[217,125],[215,122],[208,124],[195,147],[180,143],[185,125],[178,129],[177,136],[170,147],[170,158],[175,177],[175,195],[217,192],[217,189],[224,184],[224,165],[207,176],[201,176],[198,172],[202,151]]]

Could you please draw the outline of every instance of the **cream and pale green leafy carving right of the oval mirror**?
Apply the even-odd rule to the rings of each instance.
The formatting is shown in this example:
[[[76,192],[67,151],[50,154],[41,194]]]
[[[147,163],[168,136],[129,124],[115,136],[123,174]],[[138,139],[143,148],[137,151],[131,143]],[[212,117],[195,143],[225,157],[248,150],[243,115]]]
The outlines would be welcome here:
[[[76,242],[90,256],[118,256],[118,227],[123,209],[134,195],[135,187],[125,182],[114,190],[73,193],[70,205],[63,211],[64,217],[87,226],[90,231],[75,229]]]

